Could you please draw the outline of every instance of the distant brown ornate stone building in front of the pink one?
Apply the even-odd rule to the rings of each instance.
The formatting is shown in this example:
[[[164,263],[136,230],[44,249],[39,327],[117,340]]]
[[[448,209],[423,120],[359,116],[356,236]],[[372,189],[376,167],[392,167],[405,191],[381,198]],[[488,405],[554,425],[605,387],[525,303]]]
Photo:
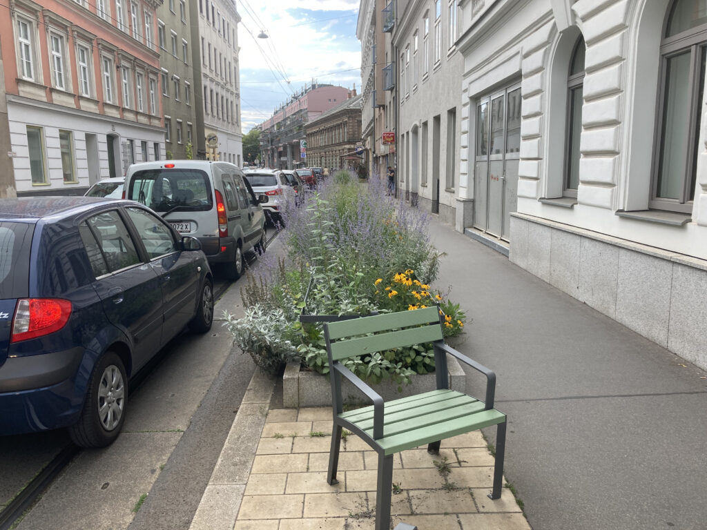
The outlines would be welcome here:
[[[361,146],[361,103],[356,90],[349,99],[305,125],[307,163],[314,167],[346,168],[366,163]]]

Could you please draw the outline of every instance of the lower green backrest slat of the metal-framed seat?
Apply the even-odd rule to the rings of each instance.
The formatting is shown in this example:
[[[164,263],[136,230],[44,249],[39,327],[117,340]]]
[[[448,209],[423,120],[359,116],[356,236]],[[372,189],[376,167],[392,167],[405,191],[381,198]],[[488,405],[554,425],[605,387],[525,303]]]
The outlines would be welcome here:
[[[411,311],[411,313],[414,313],[414,311]],[[358,323],[356,320],[349,320],[347,322],[340,322],[340,324],[348,324],[349,322]],[[348,359],[349,357],[356,357],[358,355],[375,353],[377,351],[390,350],[392,348],[402,348],[404,346],[412,346],[414,344],[440,341],[441,339],[442,329],[438,323],[419,328],[389,331],[388,333],[382,333],[379,335],[351,338],[348,341],[332,343],[329,348],[334,360],[342,360]]]

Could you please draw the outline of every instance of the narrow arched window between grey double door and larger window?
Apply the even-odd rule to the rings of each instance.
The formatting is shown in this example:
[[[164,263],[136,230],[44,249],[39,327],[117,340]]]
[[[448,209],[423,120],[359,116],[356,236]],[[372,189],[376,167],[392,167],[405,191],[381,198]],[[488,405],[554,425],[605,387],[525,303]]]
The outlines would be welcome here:
[[[567,147],[563,195],[577,196],[579,187],[580,136],[582,135],[582,105],[584,103],[584,58],[587,47],[579,37],[572,52],[567,77]]]

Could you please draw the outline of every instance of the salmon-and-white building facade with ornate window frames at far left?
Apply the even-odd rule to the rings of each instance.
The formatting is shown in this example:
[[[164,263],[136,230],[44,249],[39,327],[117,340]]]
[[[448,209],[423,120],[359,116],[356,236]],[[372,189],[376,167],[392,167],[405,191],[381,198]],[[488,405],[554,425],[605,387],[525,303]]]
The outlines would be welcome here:
[[[164,157],[156,8],[161,0],[0,6],[15,186],[83,194]]]

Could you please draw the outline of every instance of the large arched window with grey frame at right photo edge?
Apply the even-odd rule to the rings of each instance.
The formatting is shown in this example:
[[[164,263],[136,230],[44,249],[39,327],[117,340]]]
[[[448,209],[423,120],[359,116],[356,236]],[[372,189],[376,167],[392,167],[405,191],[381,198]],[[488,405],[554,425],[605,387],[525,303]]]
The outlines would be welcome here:
[[[673,1],[660,43],[660,107],[651,208],[692,209],[706,47],[707,4],[701,0]]]

